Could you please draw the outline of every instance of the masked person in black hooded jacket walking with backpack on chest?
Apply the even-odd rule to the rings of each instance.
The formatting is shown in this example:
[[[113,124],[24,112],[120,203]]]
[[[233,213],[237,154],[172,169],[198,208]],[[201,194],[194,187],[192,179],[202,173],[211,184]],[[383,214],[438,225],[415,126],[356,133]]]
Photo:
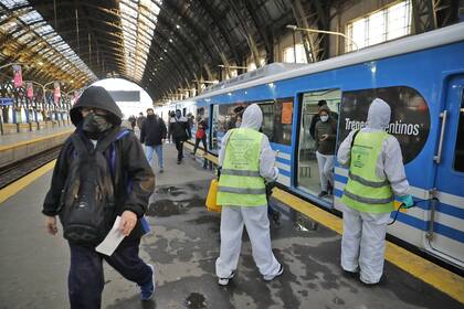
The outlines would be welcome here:
[[[103,87],[85,89],[70,115],[76,129],[60,152],[42,213],[52,235],[60,216],[70,245],[71,308],[101,307],[103,259],[136,283],[148,300],[155,292],[155,268],[138,251],[155,175],[144,149],[134,132],[120,127],[122,111]],[[125,238],[106,256],[95,248],[117,216]]]

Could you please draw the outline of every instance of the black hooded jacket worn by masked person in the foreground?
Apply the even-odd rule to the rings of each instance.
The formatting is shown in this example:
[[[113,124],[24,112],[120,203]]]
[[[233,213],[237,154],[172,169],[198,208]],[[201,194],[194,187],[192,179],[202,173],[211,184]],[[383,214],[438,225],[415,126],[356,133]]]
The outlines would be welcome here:
[[[115,130],[120,129],[119,125],[122,117],[120,109],[106,90],[102,87],[91,88],[83,93],[70,111],[71,120],[76,126],[76,130],[73,135],[80,135],[89,149],[93,148],[93,145],[81,128],[83,117],[81,115],[80,107],[96,107],[109,111],[109,118],[112,119],[114,125],[113,129]],[[110,130],[102,134],[98,140],[103,139]],[[144,149],[134,132],[129,131],[123,138],[115,141],[114,147],[115,169],[113,181],[116,194],[116,214],[120,215],[124,211],[131,211],[138,219],[140,219],[146,213],[148,199],[154,192],[155,175],[145,158]],[[108,166],[110,162],[110,148],[104,151]],[[73,153],[74,147],[70,137],[66,139],[63,148],[61,149],[53,171],[52,184],[43,203],[42,213],[45,215],[57,215],[56,210],[60,206],[61,193],[64,189],[64,183],[66,182],[68,168],[71,167],[71,161],[74,157]],[[129,187],[128,183],[130,184]],[[136,227],[133,230],[130,235],[124,239],[123,244],[138,241],[141,236],[141,232],[140,221],[138,220]]]

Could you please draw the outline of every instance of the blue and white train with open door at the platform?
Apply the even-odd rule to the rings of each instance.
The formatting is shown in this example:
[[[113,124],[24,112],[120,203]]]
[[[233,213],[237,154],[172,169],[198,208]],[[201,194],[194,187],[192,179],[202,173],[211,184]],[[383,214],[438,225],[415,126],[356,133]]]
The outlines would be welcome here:
[[[408,36],[299,67],[268,66],[222,82],[187,103],[208,119],[210,152],[234,126],[236,106],[257,103],[263,132],[278,150],[278,183],[316,204],[338,209],[347,169],[318,198],[310,122],[326,100],[338,115],[337,145],[362,127],[373,98],[392,108],[388,131],[400,141],[416,206],[400,212],[389,234],[464,269],[464,23]],[[265,74],[261,74],[261,73]],[[264,75],[264,76],[263,76]],[[260,77],[261,76],[261,77]]]

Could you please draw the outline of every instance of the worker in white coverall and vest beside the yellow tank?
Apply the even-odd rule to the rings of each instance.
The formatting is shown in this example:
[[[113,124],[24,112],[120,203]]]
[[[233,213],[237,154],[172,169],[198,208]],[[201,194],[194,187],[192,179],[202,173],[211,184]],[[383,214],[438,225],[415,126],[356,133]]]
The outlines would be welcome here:
[[[243,226],[250,236],[253,258],[264,280],[283,273],[271,247],[265,180],[276,180],[275,153],[267,137],[259,129],[263,113],[250,105],[240,128],[229,130],[222,139],[218,188],[221,213],[221,251],[215,262],[219,285],[225,286],[235,275],[242,247]]]

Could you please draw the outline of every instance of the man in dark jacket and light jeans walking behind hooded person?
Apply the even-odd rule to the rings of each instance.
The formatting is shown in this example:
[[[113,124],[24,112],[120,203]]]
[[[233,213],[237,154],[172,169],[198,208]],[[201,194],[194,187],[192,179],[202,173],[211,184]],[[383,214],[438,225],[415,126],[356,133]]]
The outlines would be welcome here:
[[[159,172],[162,173],[162,142],[166,139],[166,125],[160,117],[154,114],[152,108],[147,109],[147,119],[141,125],[140,142],[145,142],[148,163],[154,158],[154,150],[158,157]]]

